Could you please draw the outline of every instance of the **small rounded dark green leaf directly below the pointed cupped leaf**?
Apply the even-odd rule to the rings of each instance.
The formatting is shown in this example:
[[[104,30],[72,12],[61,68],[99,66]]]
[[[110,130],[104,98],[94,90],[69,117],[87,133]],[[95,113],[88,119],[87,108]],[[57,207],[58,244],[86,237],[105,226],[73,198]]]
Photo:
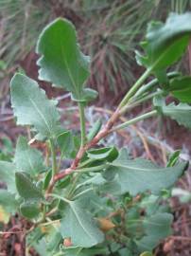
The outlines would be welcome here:
[[[21,214],[28,218],[32,219],[39,215],[40,213],[40,206],[36,201],[26,201],[20,205]]]

